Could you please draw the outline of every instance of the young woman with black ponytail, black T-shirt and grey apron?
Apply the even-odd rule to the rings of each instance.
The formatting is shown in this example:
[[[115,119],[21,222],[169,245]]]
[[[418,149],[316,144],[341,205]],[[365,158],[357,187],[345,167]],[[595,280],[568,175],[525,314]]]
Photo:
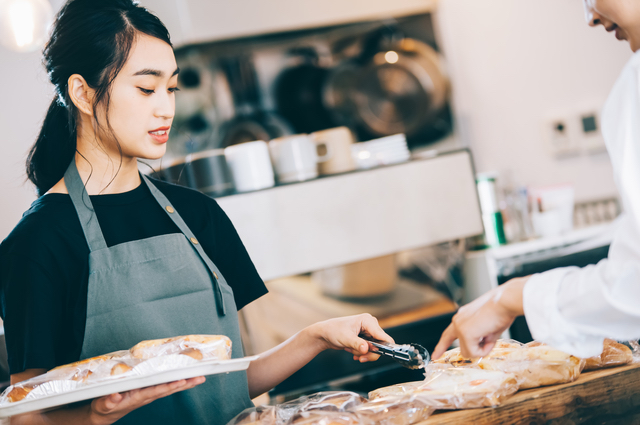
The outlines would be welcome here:
[[[227,335],[242,357],[237,310],[266,288],[231,222],[213,199],[138,172],[138,158],[165,153],[174,116],[179,70],[166,28],[132,0],[70,0],[44,60],[56,94],[27,160],[40,197],[0,245],[12,383],[184,334]],[[391,341],[370,315],[329,320],[246,372],[12,423],[226,424],[322,350],[375,360],[361,332]]]

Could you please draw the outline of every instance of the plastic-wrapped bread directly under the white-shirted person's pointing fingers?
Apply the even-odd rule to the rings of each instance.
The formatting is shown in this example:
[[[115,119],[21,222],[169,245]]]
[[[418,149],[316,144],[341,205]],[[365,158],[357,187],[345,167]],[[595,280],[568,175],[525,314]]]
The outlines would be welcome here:
[[[434,363],[513,373],[520,389],[527,389],[575,381],[585,362],[544,344],[525,345],[512,340],[499,340],[485,357],[465,359],[460,349],[454,348]]]

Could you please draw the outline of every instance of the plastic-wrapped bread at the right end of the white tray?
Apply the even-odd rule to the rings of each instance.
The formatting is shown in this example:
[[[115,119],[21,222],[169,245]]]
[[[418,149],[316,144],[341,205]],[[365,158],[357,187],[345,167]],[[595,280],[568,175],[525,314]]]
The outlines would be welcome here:
[[[186,335],[142,341],[129,351],[137,359],[182,354],[196,360],[228,360],[231,340],[224,335]]]

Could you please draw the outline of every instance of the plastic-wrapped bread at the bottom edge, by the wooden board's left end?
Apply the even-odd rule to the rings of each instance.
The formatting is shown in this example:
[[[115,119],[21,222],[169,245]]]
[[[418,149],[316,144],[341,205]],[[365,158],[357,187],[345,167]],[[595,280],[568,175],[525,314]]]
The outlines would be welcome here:
[[[435,409],[414,397],[383,397],[356,407],[363,422],[378,425],[412,425],[426,420]]]

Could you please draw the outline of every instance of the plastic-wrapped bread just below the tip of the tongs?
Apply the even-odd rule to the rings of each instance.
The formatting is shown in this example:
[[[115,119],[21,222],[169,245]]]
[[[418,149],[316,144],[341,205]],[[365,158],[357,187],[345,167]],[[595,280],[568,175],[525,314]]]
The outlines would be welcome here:
[[[419,400],[436,409],[497,406],[518,391],[515,375],[479,368],[429,365],[424,381],[379,388],[369,400],[389,397]]]

